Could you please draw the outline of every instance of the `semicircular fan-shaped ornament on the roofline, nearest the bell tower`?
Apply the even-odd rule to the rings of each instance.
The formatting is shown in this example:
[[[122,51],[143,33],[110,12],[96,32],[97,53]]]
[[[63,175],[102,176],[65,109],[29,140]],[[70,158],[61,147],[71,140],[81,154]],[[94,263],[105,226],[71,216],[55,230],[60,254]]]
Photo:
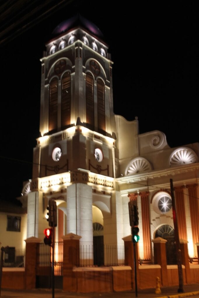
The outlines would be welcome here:
[[[135,173],[150,171],[151,165],[143,157],[136,157],[128,164],[125,175],[132,175]]]

